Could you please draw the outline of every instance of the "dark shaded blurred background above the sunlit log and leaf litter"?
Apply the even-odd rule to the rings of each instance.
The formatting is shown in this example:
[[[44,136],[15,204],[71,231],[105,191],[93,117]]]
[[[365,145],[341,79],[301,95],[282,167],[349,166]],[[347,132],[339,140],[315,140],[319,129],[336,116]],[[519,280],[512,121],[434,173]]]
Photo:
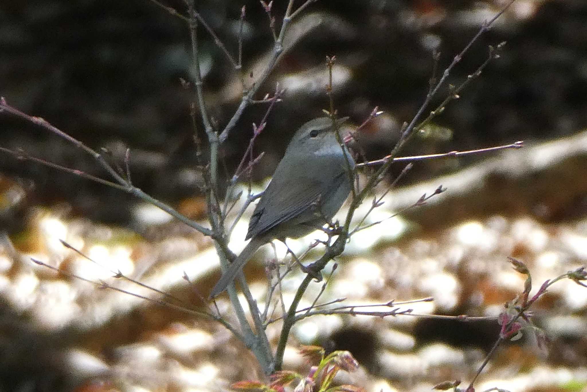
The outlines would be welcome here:
[[[257,0],[198,3],[233,54],[241,6],[247,6],[245,69],[271,48],[268,20]],[[285,3],[274,5],[278,26]],[[365,148],[370,157],[380,157],[396,140],[397,127],[410,121],[423,101],[433,67],[430,42],[440,44],[443,70],[503,3],[318,1],[306,13],[321,13],[324,22],[284,56],[257,98],[271,93],[284,77],[325,74],[325,56],[336,55],[339,65],[352,72],[336,90],[340,115],[359,124],[379,106],[392,120],[368,130]],[[185,12],[181,1],[165,4]],[[180,78],[191,80],[183,21],[147,0],[3,2],[0,18],[0,94],[9,104],[44,117],[92,148],[106,146],[116,153],[130,147],[134,184],[158,198],[173,204],[198,194],[194,183],[181,177],[184,168],[197,164],[188,109],[192,92],[180,83]],[[210,69],[204,79],[208,107],[221,129],[239,103],[234,93],[240,88],[238,78],[210,36],[201,28],[198,33],[203,69]],[[587,4],[518,1],[475,43],[449,82],[462,82],[485,60],[487,46],[504,40],[501,58],[404,153],[519,139],[533,143],[585,127]],[[444,96],[446,89],[441,89],[437,102]],[[247,109],[222,147],[229,172],[247,145],[251,123],[261,120],[265,107]],[[267,154],[255,178],[270,175],[296,127],[327,107],[323,89],[286,93],[259,138],[257,153]],[[0,146],[104,175],[80,150],[39,127],[8,114],[0,114],[0,124]],[[405,181],[456,170],[476,159],[421,163]],[[120,191],[6,154],[0,155],[0,173],[26,188],[28,205],[66,200],[75,214],[99,221],[126,222],[134,202]],[[4,224],[15,231],[20,221],[18,214],[10,214]]]

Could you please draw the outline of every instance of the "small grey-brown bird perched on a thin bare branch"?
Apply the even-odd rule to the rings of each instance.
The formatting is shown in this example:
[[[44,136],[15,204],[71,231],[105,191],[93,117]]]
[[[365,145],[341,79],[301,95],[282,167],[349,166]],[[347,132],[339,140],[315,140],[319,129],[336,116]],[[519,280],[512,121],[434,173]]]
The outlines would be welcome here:
[[[347,119],[336,122],[342,124]],[[336,141],[330,117],[302,125],[255,207],[245,238],[251,241],[214,285],[211,298],[227,288],[259,246],[274,239],[301,237],[332,219],[353,186],[347,159],[354,168],[346,146],[343,153]]]

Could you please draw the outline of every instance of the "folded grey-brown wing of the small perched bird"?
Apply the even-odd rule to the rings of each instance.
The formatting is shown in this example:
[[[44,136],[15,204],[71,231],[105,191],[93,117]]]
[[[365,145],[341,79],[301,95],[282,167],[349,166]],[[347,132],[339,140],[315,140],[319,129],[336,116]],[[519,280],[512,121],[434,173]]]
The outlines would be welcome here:
[[[328,181],[330,182],[332,181]],[[276,177],[263,192],[249,221],[247,239],[263,234],[294,217],[298,217],[299,222],[315,219],[313,206],[319,201],[321,194],[328,191],[329,184],[305,173],[290,176],[288,185],[283,183],[284,181]],[[295,190],[292,190],[292,187],[295,187]]]

